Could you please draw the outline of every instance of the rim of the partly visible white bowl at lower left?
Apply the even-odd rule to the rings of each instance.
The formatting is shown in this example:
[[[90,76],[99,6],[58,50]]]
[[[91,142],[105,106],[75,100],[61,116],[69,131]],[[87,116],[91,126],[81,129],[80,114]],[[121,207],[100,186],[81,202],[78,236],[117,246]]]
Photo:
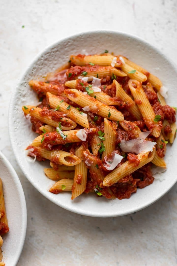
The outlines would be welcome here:
[[[13,166],[11,165],[11,163],[8,161],[8,159],[6,158],[6,156],[0,151],[0,161],[3,161],[3,163],[5,164],[5,166],[7,167],[8,171],[11,173],[11,177],[14,181],[14,183],[16,184],[16,189],[19,192],[19,197],[20,197],[20,202],[22,205],[21,211],[22,211],[22,229],[21,229],[21,241],[19,244],[19,248],[16,250],[16,256],[15,258],[13,258],[13,264],[11,264],[11,266],[15,266],[20,258],[21,252],[23,250],[23,246],[24,246],[24,241],[25,241],[25,237],[26,237],[26,231],[27,231],[27,206],[26,206],[26,201],[25,201],[25,195],[24,195],[24,191],[21,185],[21,182],[19,180],[19,177],[17,175],[17,173],[15,172]]]

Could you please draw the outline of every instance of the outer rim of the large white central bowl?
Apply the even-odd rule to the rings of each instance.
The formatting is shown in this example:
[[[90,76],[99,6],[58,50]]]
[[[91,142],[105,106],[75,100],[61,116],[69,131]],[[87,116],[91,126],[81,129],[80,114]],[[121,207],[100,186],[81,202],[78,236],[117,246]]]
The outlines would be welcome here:
[[[133,38],[134,40],[136,41],[139,41],[140,43],[143,43],[144,45],[152,48],[153,50],[155,50],[161,57],[165,58],[175,69],[175,71],[177,72],[177,66],[176,64],[174,63],[174,61],[172,61],[168,56],[166,56],[164,53],[162,53],[157,47],[155,47],[154,45],[148,43],[147,41],[141,39],[139,36],[136,36],[136,35],[133,35],[133,34],[129,34],[127,32],[123,32],[123,31],[113,31],[113,30],[91,30],[91,31],[85,31],[85,32],[80,32],[80,33],[77,33],[77,34],[74,34],[74,35],[70,35],[68,37],[65,37],[63,39],[59,39],[58,41],[55,41],[54,43],[48,45],[46,48],[44,48],[42,50],[42,52],[39,52],[31,61],[31,63],[27,66],[27,68],[25,69],[25,71],[23,72],[23,74],[18,78],[18,81],[16,82],[16,85],[15,85],[15,89],[13,90],[12,92],[12,95],[11,95],[11,100],[10,100],[10,104],[9,104],[9,111],[8,111],[8,133],[9,133],[9,137],[10,137],[10,142],[11,142],[11,145],[12,145],[12,150],[14,152],[14,155],[15,155],[15,158],[16,158],[16,161],[21,169],[21,171],[23,172],[23,174],[25,175],[25,177],[28,179],[28,181],[38,190],[38,192],[40,192],[44,197],[46,197],[48,200],[50,200],[51,202],[55,203],[56,205],[62,207],[63,209],[66,209],[68,211],[71,211],[71,212],[74,212],[74,213],[77,213],[77,214],[81,214],[81,215],[85,215],[85,216],[90,216],[90,217],[100,217],[100,218],[106,218],[106,217],[117,217],[117,216],[123,216],[123,215],[127,215],[127,214],[131,214],[131,213],[134,213],[134,212],[137,212],[137,211],[140,211],[150,205],[152,205],[153,203],[155,203],[157,200],[159,200],[160,198],[162,198],[167,192],[169,192],[169,190],[174,186],[174,184],[177,182],[177,180],[174,180],[171,184],[170,187],[168,187],[167,190],[163,191],[162,195],[159,197],[156,197],[155,199],[153,199],[152,201],[142,205],[141,207],[137,208],[135,207],[134,209],[132,209],[131,211],[124,211],[123,213],[113,213],[113,214],[92,214],[92,213],[87,213],[85,212],[84,210],[73,210],[71,207],[68,207],[68,206],[65,206],[63,205],[62,203],[60,202],[56,202],[54,198],[51,198],[49,194],[47,194],[46,192],[44,192],[41,188],[37,187],[36,184],[33,184],[33,182],[31,181],[30,177],[28,177],[28,173],[25,173],[25,169],[22,167],[22,165],[20,164],[19,162],[19,159],[18,159],[18,155],[16,153],[16,149],[15,149],[15,146],[14,146],[14,143],[13,143],[13,139],[12,139],[12,134],[13,132],[10,130],[10,119],[11,119],[11,114],[12,114],[12,111],[11,111],[11,106],[12,106],[12,103],[14,101],[14,97],[15,97],[15,94],[17,92],[17,89],[18,89],[18,86],[21,84],[21,81],[24,79],[26,73],[28,72],[29,69],[31,69],[31,67],[33,65],[36,64],[37,60],[46,52],[50,51],[50,49],[52,49],[53,47],[55,47],[57,44],[63,42],[63,41],[67,41],[68,39],[72,40],[72,39],[75,39],[77,37],[80,37],[81,35],[88,35],[88,34],[115,34],[115,35],[123,35],[125,37],[129,37],[129,38]]]

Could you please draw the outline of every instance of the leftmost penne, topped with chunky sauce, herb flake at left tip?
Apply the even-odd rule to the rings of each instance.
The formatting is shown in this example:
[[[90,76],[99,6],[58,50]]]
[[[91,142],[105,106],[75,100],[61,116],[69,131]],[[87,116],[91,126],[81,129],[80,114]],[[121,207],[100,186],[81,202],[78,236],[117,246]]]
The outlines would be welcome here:
[[[41,122],[45,123],[45,124],[49,124],[50,126],[53,127],[58,127],[58,123],[61,123],[61,128],[62,130],[71,130],[73,128],[75,128],[77,126],[77,124],[72,121],[69,118],[63,117],[63,114],[60,112],[58,112],[59,114],[59,118],[57,116],[57,120],[53,120],[52,118],[54,117],[54,115],[58,115],[57,113],[54,113],[54,111],[48,111],[49,114],[43,114],[42,113],[42,109],[36,106],[31,106],[31,105],[26,105],[22,107],[22,110],[24,112],[25,115],[30,114],[31,117],[35,117],[38,120],[40,120]],[[56,111],[57,112],[57,111]]]

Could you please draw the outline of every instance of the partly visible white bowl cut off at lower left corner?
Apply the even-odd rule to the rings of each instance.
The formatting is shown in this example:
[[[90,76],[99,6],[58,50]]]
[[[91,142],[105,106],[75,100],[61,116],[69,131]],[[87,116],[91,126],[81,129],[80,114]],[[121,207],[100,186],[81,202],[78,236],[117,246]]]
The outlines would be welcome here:
[[[19,260],[27,229],[27,208],[20,180],[6,157],[0,152],[0,173],[9,232],[3,236],[3,259],[8,266]]]

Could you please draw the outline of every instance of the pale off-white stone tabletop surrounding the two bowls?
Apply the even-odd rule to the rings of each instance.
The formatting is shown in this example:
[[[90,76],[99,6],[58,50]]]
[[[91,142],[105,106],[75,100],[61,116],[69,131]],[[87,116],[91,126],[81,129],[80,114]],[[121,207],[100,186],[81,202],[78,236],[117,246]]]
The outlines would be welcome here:
[[[18,266],[177,264],[177,185],[152,206],[124,217],[71,213],[44,198],[24,177],[7,127],[18,78],[38,52],[69,35],[96,29],[123,31],[140,36],[176,61],[176,5],[175,0],[0,0],[0,149],[20,178],[28,212]]]

